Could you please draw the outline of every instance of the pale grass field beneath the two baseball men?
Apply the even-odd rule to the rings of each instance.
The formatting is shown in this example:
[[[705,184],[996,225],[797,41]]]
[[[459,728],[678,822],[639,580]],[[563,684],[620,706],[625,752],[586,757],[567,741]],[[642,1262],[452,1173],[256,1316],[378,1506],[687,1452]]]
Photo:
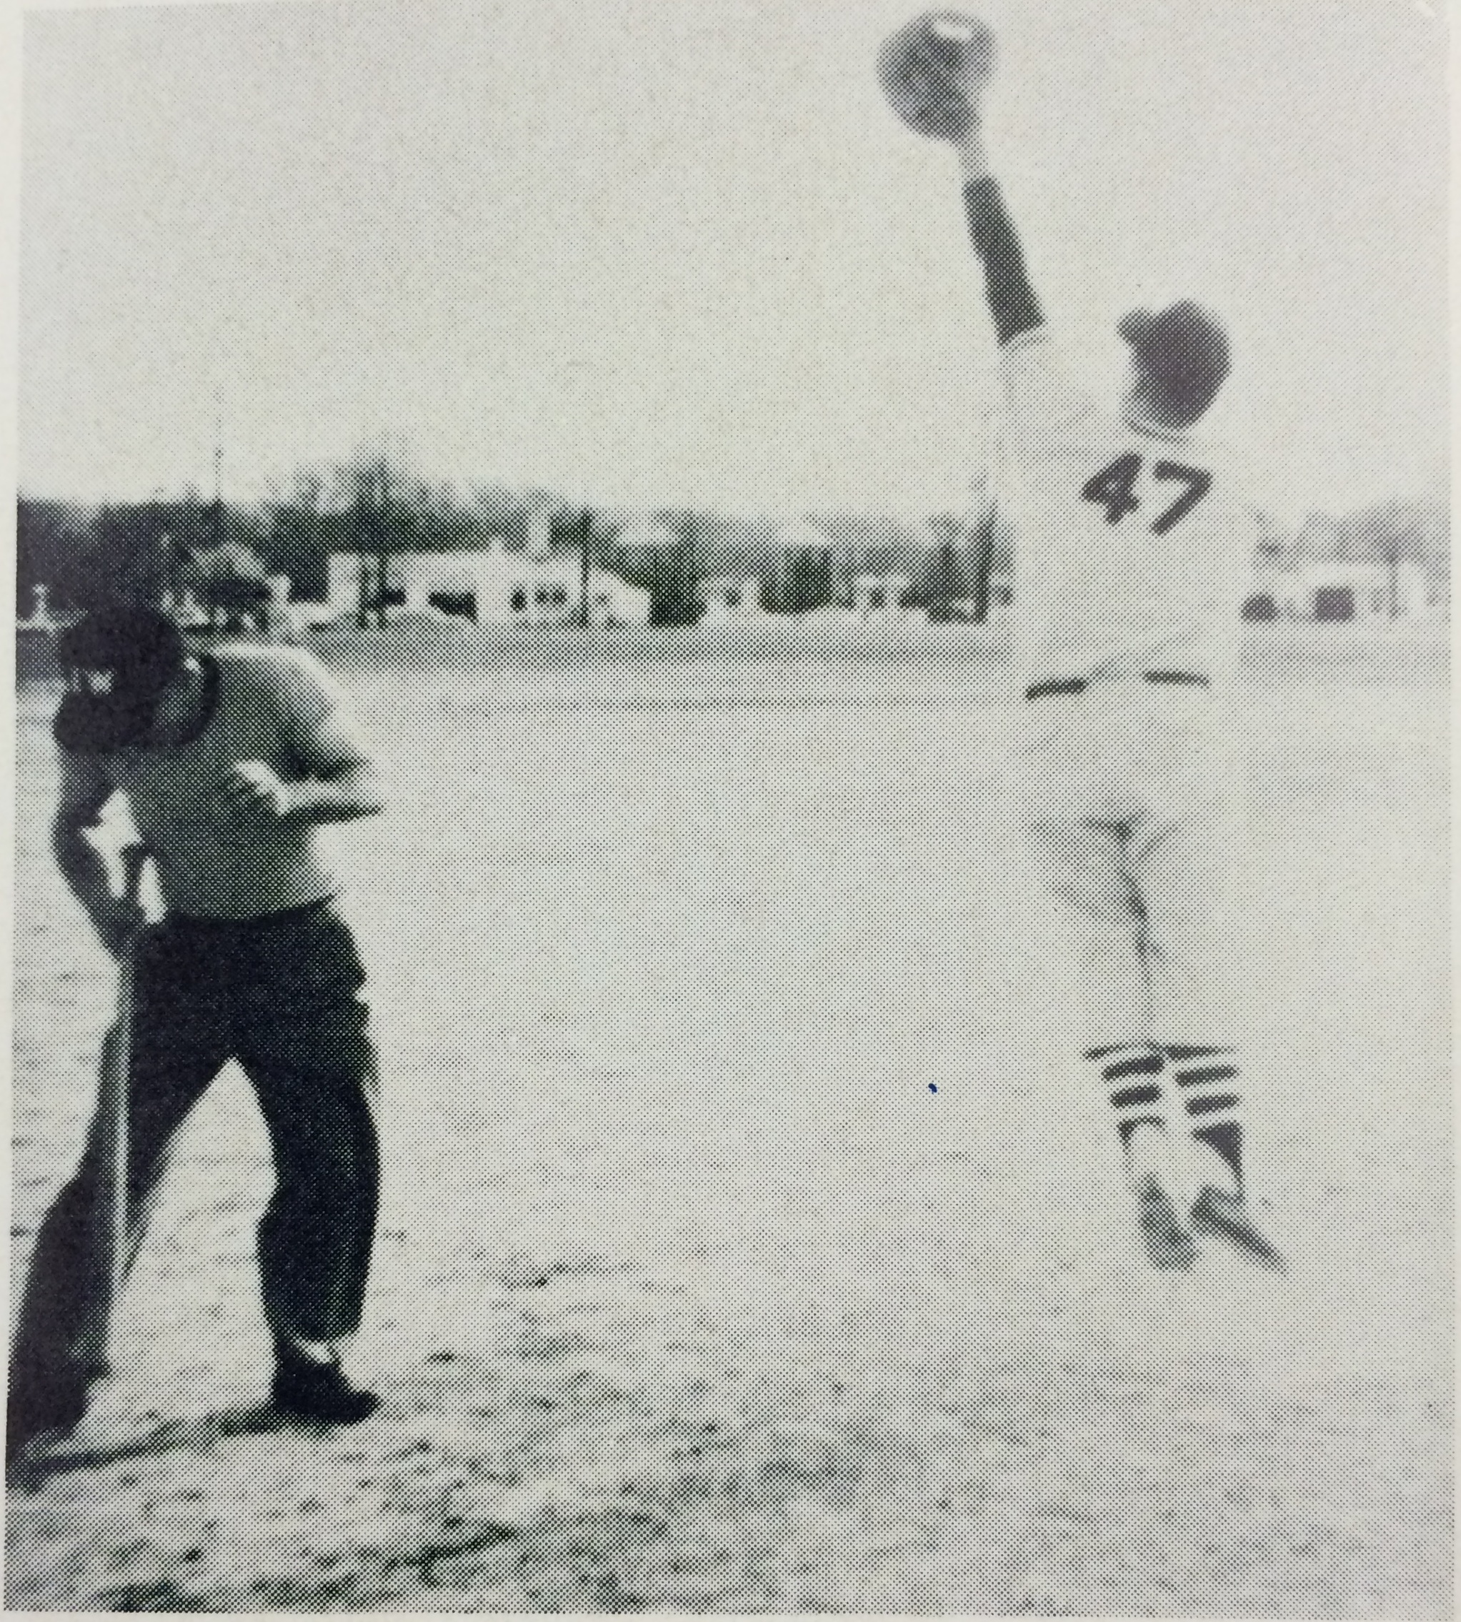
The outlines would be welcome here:
[[[332,835],[386,1408],[268,1422],[230,1071],[123,1372],[8,1495],[10,1607],[1453,1614],[1448,681],[1438,641],[1335,636],[1252,649],[1242,701],[1286,1280],[1137,1259],[973,644],[339,637],[392,777]],[[45,855],[52,702],[21,689],[11,1278],[112,996]]]

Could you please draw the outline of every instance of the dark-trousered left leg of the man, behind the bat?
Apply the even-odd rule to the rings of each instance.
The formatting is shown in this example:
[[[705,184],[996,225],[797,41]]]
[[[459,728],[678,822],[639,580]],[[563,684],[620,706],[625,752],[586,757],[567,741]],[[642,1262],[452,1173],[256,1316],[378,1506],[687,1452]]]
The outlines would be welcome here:
[[[178,949],[167,926],[138,949],[128,1071],[128,1200],[125,1268],[136,1259],[178,1127],[227,1056],[206,965]],[[117,1040],[115,1030],[107,1033]],[[6,1458],[31,1437],[70,1429],[86,1411],[92,1367],[84,1341],[97,1314],[115,1311],[96,1254],[99,1131],[92,1121],[81,1161],[36,1236],[11,1343]]]

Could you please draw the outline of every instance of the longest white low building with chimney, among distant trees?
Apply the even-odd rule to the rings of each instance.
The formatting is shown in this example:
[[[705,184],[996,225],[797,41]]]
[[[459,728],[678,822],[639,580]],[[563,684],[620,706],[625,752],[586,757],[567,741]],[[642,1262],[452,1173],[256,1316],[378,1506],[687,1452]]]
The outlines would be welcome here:
[[[537,548],[535,548],[537,550]],[[375,594],[376,560],[337,551],[329,560],[329,603],[339,616],[360,607],[362,582]],[[436,611],[475,624],[563,624],[584,616],[582,564],[569,553],[533,556],[493,542],[482,551],[397,551],[388,560],[386,613]],[[606,569],[589,571],[593,624],[647,624],[649,592]]]

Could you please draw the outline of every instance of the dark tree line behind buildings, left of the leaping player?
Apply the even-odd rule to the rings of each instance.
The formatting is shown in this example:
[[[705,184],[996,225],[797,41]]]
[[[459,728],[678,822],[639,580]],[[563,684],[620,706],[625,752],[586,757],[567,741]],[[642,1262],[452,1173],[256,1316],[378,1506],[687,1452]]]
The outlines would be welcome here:
[[[336,553],[362,558],[363,616],[389,600],[389,560],[402,553],[529,545],[546,516],[553,553],[581,556],[649,594],[650,621],[699,618],[704,582],[746,582],[762,608],[804,613],[851,602],[858,574],[905,576],[903,600],[932,618],[983,618],[989,579],[1012,563],[1012,537],[992,506],[913,526],[877,514],[808,514],[786,539],[772,519],[694,509],[652,514],[574,504],[543,490],[477,485],[462,493],[384,461],[347,477],[303,472],[277,496],[204,500],[196,490],[148,501],[81,504],[21,495],[16,514],[18,603],[45,586],[57,611],[118,597],[159,600],[190,589],[203,607],[237,608],[284,574],[298,600],[329,590]]]

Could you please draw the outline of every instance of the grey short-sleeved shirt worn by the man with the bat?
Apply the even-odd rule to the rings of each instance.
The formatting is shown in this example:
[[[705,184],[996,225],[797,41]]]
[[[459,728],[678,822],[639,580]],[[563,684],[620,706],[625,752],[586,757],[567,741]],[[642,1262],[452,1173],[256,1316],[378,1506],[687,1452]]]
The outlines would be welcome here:
[[[342,697],[303,650],[232,646],[203,655],[203,715],[167,746],[63,756],[63,769],[120,790],[152,852],[170,912],[255,918],[334,895],[310,822],[222,821],[212,798],[230,769],[263,761],[285,782],[341,764]]]

